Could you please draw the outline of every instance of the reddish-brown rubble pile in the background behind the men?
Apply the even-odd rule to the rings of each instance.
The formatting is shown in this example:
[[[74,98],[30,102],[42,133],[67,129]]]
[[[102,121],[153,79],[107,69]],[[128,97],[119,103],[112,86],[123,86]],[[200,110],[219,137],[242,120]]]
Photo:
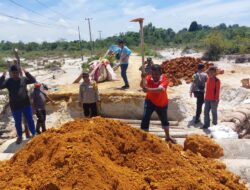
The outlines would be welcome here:
[[[197,72],[198,64],[203,63],[205,70],[213,63],[204,62],[201,59],[194,57],[180,57],[171,60],[164,61],[161,65],[163,73],[167,74],[170,86],[181,85],[181,80],[185,80],[186,83],[191,83],[193,75]],[[223,74],[223,70],[218,70],[218,74]]]

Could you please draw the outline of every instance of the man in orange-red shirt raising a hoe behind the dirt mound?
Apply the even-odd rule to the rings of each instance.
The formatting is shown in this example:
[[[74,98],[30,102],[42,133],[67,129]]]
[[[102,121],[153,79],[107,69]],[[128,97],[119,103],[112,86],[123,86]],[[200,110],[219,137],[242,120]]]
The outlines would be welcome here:
[[[144,84],[146,81],[146,84]],[[161,73],[160,65],[152,65],[151,75],[142,76],[141,87],[147,93],[144,103],[144,114],[141,123],[141,129],[149,131],[149,123],[151,115],[156,111],[162,123],[162,128],[166,134],[166,141],[176,143],[176,140],[169,135],[169,122],[167,118],[168,96],[167,96],[168,80]]]

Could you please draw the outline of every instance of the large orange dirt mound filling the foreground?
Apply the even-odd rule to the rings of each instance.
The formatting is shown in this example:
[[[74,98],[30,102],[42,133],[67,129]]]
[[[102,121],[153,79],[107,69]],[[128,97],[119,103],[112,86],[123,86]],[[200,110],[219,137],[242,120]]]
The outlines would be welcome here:
[[[0,162],[0,189],[237,189],[225,165],[111,119],[77,119]]]

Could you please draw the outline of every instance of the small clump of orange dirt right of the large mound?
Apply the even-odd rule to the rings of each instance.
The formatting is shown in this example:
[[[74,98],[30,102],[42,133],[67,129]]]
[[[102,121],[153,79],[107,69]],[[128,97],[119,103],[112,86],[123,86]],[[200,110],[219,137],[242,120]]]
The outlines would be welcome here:
[[[223,148],[205,135],[190,135],[184,142],[184,150],[200,153],[206,158],[220,158],[224,156]]]

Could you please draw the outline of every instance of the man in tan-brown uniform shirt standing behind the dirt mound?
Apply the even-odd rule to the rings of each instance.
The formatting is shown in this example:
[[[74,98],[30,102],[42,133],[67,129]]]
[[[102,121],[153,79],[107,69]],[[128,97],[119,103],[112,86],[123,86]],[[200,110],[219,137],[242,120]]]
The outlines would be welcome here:
[[[100,96],[95,81],[91,81],[88,73],[83,73],[83,82],[79,87],[79,106],[83,107],[85,117],[97,116],[97,102]]]

